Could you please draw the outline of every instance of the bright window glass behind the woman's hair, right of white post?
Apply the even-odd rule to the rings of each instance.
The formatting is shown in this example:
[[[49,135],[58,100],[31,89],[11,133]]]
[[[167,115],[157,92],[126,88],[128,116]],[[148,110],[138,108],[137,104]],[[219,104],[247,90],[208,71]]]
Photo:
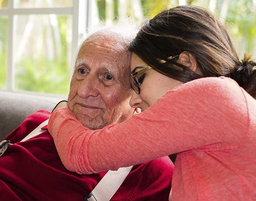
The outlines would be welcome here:
[[[91,0],[91,29],[122,21],[127,16],[141,21],[163,9],[197,5],[211,10],[225,25],[241,58],[244,52],[256,57],[256,0]]]

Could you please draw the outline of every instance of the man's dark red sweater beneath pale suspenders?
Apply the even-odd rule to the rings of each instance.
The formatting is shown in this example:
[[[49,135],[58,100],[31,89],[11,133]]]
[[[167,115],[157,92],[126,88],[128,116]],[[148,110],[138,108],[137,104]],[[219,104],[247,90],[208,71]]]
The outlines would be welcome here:
[[[82,201],[106,174],[66,170],[47,130],[19,142],[50,115],[45,110],[31,114],[5,138],[14,144],[0,157],[0,200]],[[111,201],[167,201],[173,168],[167,156],[134,166]]]

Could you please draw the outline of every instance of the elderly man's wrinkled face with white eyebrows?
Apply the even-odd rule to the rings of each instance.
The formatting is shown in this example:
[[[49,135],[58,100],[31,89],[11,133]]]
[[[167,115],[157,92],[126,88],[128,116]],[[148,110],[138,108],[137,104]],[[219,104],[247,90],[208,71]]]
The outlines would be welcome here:
[[[81,124],[101,129],[132,116],[129,56],[117,41],[96,37],[79,50],[68,107]]]

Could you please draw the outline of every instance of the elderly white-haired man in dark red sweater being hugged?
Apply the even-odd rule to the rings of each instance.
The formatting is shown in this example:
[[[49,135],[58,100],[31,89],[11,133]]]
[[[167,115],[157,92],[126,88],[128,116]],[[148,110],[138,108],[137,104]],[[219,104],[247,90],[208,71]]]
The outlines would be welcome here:
[[[99,129],[133,115],[130,55],[126,38],[115,33],[95,33],[81,46],[68,104],[84,126]],[[79,175],[66,170],[46,126],[44,132],[20,142],[50,115],[45,110],[33,113],[6,137],[12,146],[0,158],[1,200],[82,201],[106,174]],[[168,200],[172,170],[167,156],[136,165],[111,200]]]

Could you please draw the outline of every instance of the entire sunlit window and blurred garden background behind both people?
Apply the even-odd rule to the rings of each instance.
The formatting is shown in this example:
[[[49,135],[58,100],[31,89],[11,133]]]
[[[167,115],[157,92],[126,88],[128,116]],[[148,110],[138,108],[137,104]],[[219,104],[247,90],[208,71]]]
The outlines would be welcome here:
[[[256,0],[80,0],[77,10],[73,8],[75,0],[10,1],[0,0],[0,90],[68,94],[72,52],[77,50],[72,46],[75,20],[79,43],[90,29],[122,22],[127,16],[141,21],[145,16],[153,17],[175,5],[199,5],[210,9],[225,24],[240,58],[245,52],[256,58]],[[73,13],[79,12],[79,17],[47,14],[47,8],[63,7],[72,8]],[[37,14],[37,8],[45,8],[46,14]],[[21,13],[27,9],[33,14],[12,15],[10,25],[9,12],[14,9]],[[9,40],[10,30],[12,41]],[[9,58],[10,52],[12,58]],[[14,66],[12,88],[7,84],[10,60]]]

